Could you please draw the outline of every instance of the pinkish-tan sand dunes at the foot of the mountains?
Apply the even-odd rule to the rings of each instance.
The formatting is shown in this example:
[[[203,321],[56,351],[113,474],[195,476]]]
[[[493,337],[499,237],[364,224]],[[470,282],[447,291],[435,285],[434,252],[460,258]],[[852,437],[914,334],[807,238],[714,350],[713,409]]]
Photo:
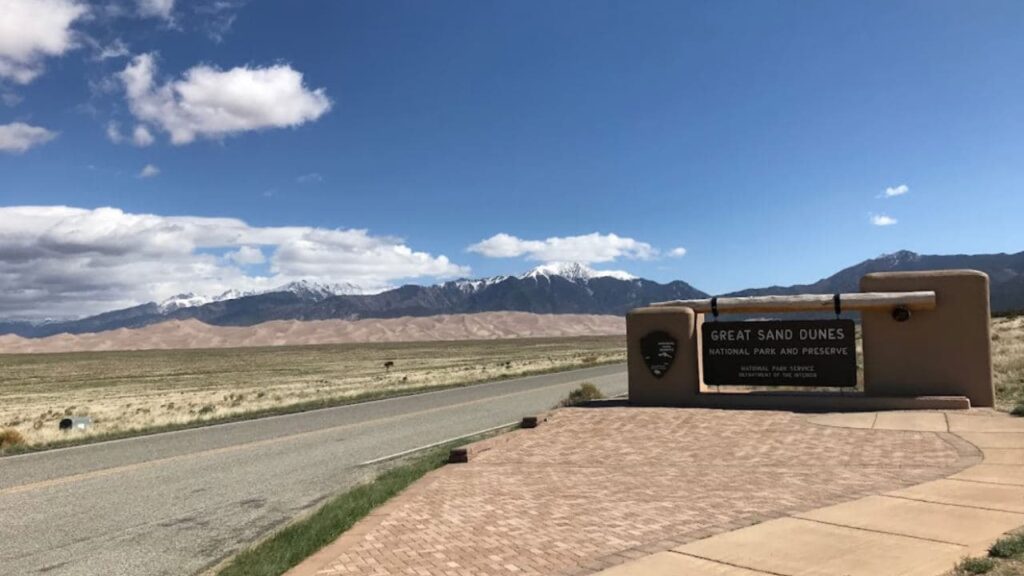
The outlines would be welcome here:
[[[519,312],[369,320],[284,320],[255,326],[211,326],[198,320],[168,321],[145,328],[121,328],[47,338],[0,336],[0,354],[280,346],[341,342],[475,340],[626,333],[617,316],[543,315]]]

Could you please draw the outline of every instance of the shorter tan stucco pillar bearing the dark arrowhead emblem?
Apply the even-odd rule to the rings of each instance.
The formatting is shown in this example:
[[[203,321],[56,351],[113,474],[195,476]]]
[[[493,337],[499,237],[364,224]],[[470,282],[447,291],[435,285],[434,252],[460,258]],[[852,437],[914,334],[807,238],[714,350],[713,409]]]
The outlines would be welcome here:
[[[637,308],[626,316],[630,403],[644,406],[684,406],[697,395],[697,339],[693,311],[682,306]],[[655,376],[643,359],[641,341],[655,332],[676,341],[670,368]]]

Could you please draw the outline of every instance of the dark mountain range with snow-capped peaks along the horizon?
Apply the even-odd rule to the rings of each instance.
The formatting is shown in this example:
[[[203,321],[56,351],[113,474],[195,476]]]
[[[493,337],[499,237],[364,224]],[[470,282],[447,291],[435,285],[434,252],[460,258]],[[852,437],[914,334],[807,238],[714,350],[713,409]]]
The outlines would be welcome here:
[[[991,279],[992,311],[1024,310],[1024,252],[1016,254],[922,255],[902,250],[864,260],[813,284],[770,286],[719,294],[856,292],[871,272],[974,269]],[[118,328],[140,328],[167,320],[199,320],[215,326],[251,326],[273,320],[358,320],[484,312],[623,316],[653,301],[709,294],[682,282],[660,284],[622,272],[595,272],[579,263],[546,264],[519,276],[406,285],[376,294],[358,286],[294,282],[262,293],[225,292],[216,297],[180,294],[164,302],[79,320],[0,322],[0,334],[38,338]]]

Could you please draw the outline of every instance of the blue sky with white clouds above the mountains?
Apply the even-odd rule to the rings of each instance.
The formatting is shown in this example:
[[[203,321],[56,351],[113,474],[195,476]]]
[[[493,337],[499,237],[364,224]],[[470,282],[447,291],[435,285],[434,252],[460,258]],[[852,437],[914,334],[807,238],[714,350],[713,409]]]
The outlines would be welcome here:
[[[39,250],[54,222],[92,227],[47,258],[134,243],[123,231],[141,214],[262,231],[182,240],[211,258],[188,270],[230,265],[250,284],[316,275],[308,250],[285,259],[339,230],[366,232],[311,250],[422,254],[366,274],[352,266],[374,268],[372,251],[323,260],[325,280],[380,286],[575,255],[725,292],[812,282],[898,249],[1024,249],[1019,2],[46,2],[81,13],[62,48],[0,41],[0,205],[89,211],[30,227],[15,210],[0,223],[8,244]],[[128,69],[147,87],[133,94]],[[218,98],[236,107],[226,124],[196,114]],[[9,129],[4,152],[15,124],[47,133]],[[136,126],[148,137],[133,142]],[[307,236],[266,239],[285,227]],[[499,234],[515,239],[478,244]],[[260,256],[231,259],[243,245]],[[52,276],[17,270],[7,289],[27,300]],[[61,278],[43,293],[71,305],[85,283],[116,293],[89,296],[102,307],[177,290],[188,274],[141,292]]]

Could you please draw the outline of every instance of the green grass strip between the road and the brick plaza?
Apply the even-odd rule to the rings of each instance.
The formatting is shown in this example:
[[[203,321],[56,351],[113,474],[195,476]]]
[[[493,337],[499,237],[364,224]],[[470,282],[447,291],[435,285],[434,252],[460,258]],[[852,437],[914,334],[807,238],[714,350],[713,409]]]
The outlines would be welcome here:
[[[451,446],[435,448],[376,480],[336,496],[312,516],[289,525],[234,557],[218,576],[278,576],[330,544],[374,508],[447,461]]]

